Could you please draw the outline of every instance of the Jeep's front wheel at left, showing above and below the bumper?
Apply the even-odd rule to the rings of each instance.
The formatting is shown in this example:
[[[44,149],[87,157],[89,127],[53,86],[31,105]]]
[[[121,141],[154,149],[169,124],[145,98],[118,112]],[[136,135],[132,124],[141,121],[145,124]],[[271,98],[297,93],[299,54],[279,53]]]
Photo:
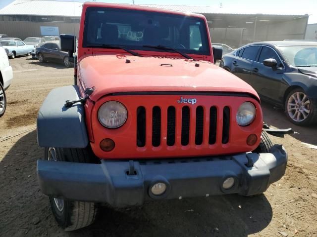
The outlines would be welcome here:
[[[46,148],[45,158],[52,161],[71,161],[88,163],[87,149]],[[74,231],[91,225],[97,215],[97,203],[71,201],[50,197],[52,212],[58,225],[65,231]]]

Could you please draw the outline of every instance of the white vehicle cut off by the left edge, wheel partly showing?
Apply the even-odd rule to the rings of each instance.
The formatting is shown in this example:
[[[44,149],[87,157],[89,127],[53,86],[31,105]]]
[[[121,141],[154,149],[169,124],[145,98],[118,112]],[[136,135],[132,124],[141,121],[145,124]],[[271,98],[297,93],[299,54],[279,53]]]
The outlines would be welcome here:
[[[6,97],[4,90],[9,87],[12,78],[12,67],[10,66],[7,53],[5,49],[0,46],[0,117],[4,114],[6,108]]]

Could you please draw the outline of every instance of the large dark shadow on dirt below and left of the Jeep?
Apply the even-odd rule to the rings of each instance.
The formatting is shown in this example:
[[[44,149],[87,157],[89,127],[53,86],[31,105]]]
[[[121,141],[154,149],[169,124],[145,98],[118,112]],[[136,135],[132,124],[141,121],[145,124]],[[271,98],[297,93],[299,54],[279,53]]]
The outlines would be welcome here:
[[[0,147],[10,147],[8,142]],[[247,237],[272,219],[264,195],[202,197],[146,203],[143,207],[100,208],[98,220],[82,230],[63,232],[56,225],[48,198],[39,190],[36,160],[43,149],[32,131],[0,162],[0,236],[8,237]]]

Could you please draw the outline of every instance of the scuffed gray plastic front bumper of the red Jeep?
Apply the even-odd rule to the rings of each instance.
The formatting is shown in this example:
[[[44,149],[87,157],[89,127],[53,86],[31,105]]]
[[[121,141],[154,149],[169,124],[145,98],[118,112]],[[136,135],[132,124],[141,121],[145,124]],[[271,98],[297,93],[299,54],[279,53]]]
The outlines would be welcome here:
[[[267,154],[249,154],[253,167],[247,167],[246,154],[166,160],[133,161],[136,174],[127,175],[129,161],[105,161],[101,164],[38,160],[41,190],[52,197],[106,202],[112,206],[142,205],[145,200],[211,195],[263,193],[285,173],[287,154],[282,145],[274,145]],[[235,179],[235,185],[222,188],[222,182]],[[162,196],[150,193],[152,185],[164,182]]]

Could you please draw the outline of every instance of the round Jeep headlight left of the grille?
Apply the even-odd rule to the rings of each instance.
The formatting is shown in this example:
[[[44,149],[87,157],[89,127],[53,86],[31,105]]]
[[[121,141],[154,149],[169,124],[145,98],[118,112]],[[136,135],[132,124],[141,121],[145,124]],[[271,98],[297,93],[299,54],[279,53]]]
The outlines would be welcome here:
[[[107,128],[117,128],[127,120],[128,113],[124,105],[117,101],[108,101],[98,111],[98,119]]]

